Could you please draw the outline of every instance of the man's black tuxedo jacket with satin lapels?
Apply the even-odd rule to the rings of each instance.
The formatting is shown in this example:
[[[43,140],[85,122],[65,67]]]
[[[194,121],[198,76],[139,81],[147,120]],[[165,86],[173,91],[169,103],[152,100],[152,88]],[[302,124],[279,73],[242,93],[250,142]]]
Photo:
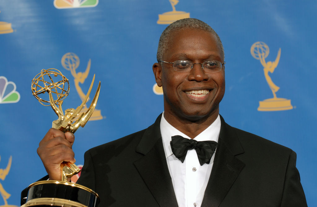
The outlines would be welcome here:
[[[149,128],[85,153],[78,184],[99,206],[178,206],[167,167],[161,115]],[[289,148],[233,128],[221,117],[218,148],[202,207],[307,206]]]

